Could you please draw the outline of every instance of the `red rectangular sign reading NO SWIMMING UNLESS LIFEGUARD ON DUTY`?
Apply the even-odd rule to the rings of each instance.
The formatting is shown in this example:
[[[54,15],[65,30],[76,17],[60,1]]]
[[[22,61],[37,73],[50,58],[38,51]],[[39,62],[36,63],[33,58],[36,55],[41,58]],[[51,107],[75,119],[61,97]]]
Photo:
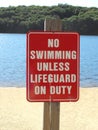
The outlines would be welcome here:
[[[27,100],[69,102],[79,98],[79,34],[27,33]]]

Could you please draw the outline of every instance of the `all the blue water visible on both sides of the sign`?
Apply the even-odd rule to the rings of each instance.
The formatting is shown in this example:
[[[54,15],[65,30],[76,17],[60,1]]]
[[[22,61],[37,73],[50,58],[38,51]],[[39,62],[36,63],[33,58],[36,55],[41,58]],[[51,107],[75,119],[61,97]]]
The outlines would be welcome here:
[[[80,37],[80,86],[98,87],[98,36]],[[0,34],[0,86],[26,86],[26,35]]]

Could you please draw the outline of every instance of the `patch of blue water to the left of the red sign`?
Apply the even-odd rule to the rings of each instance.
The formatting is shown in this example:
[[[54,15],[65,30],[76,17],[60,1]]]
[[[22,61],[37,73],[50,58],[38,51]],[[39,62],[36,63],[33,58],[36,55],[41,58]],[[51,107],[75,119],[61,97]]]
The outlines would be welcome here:
[[[25,86],[26,36],[0,34],[0,86]]]

